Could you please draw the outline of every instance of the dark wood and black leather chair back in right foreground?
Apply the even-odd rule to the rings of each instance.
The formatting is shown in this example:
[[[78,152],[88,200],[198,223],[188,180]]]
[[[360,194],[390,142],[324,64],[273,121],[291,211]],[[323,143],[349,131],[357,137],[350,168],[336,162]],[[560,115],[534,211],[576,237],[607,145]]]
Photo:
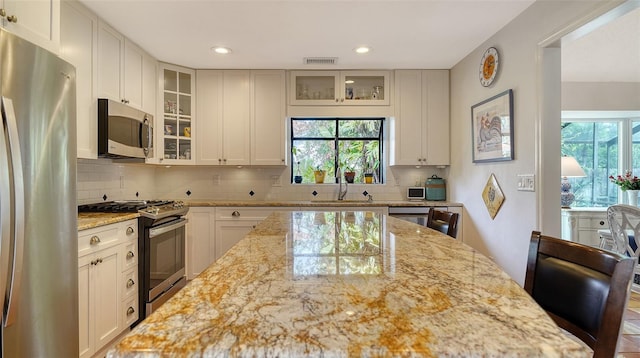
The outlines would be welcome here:
[[[614,357],[634,265],[630,257],[534,231],[524,289],[594,357]]]

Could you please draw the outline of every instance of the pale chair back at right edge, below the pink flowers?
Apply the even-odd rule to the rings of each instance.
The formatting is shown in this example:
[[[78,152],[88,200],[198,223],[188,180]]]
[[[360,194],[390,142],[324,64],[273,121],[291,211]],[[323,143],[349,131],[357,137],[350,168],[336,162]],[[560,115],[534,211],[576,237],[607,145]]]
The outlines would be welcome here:
[[[618,204],[607,208],[613,251],[633,257],[640,256],[640,208]]]

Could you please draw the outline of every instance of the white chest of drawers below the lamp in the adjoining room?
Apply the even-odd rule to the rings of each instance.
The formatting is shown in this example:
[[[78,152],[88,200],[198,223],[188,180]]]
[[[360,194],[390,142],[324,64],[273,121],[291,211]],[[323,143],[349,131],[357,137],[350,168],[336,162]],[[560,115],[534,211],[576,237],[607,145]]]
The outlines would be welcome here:
[[[598,230],[608,230],[607,208],[562,209],[562,239],[600,246]]]

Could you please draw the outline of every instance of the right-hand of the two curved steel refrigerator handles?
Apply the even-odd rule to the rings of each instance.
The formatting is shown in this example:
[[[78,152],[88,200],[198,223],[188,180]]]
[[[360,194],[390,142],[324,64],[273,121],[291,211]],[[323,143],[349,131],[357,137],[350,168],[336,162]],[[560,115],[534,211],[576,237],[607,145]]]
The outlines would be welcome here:
[[[20,302],[20,285],[22,283],[22,262],[24,256],[25,211],[24,211],[24,180],[22,175],[22,155],[18,140],[18,122],[16,120],[13,101],[2,97],[2,117],[6,121],[9,134],[9,151],[11,154],[11,174],[14,187],[14,234],[13,234],[13,267],[10,268],[9,295],[5,307],[4,326],[10,326],[16,320],[18,302]]]

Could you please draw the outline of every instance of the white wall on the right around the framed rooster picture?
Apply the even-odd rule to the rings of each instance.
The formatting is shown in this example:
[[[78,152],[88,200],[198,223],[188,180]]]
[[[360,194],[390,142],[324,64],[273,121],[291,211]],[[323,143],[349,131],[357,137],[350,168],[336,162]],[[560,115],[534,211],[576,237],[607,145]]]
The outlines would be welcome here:
[[[493,258],[520,283],[524,281],[531,231],[539,229],[542,210],[538,208],[545,207],[544,203],[539,202],[538,195],[541,190],[550,193],[555,190],[558,194],[560,191],[559,135],[548,138],[543,135],[545,129],[550,133],[555,132],[556,123],[559,132],[560,100],[557,99],[558,113],[553,118],[538,121],[542,117],[539,113],[543,99],[550,100],[540,96],[543,76],[539,69],[542,68],[543,52],[538,44],[594,11],[604,12],[611,4],[591,1],[535,2],[451,70],[452,165],[449,179],[455,183],[451,199],[465,206],[465,242]],[[500,52],[501,68],[494,84],[484,88],[478,80],[478,68],[482,53],[491,46]],[[559,57],[556,62],[560,66]],[[559,85],[559,79],[557,83]],[[514,92],[515,160],[473,164],[470,108],[507,89],[513,89]],[[558,148],[557,158],[543,150],[554,146]],[[537,158],[536,153],[543,153],[543,157]],[[550,166],[546,172],[542,171],[545,165]],[[506,198],[494,220],[487,213],[481,197],[491,173],[495,174]],[[517,191],[517,174],[530,173],[537,174],[537,192]],[[541,188],[541,173],[545,177],[557,177],[557,187]],[[550,207],[557,207],[554,211],[557,210],[559,221],[559,195],[557,197],[557,203],[550,203]]]

